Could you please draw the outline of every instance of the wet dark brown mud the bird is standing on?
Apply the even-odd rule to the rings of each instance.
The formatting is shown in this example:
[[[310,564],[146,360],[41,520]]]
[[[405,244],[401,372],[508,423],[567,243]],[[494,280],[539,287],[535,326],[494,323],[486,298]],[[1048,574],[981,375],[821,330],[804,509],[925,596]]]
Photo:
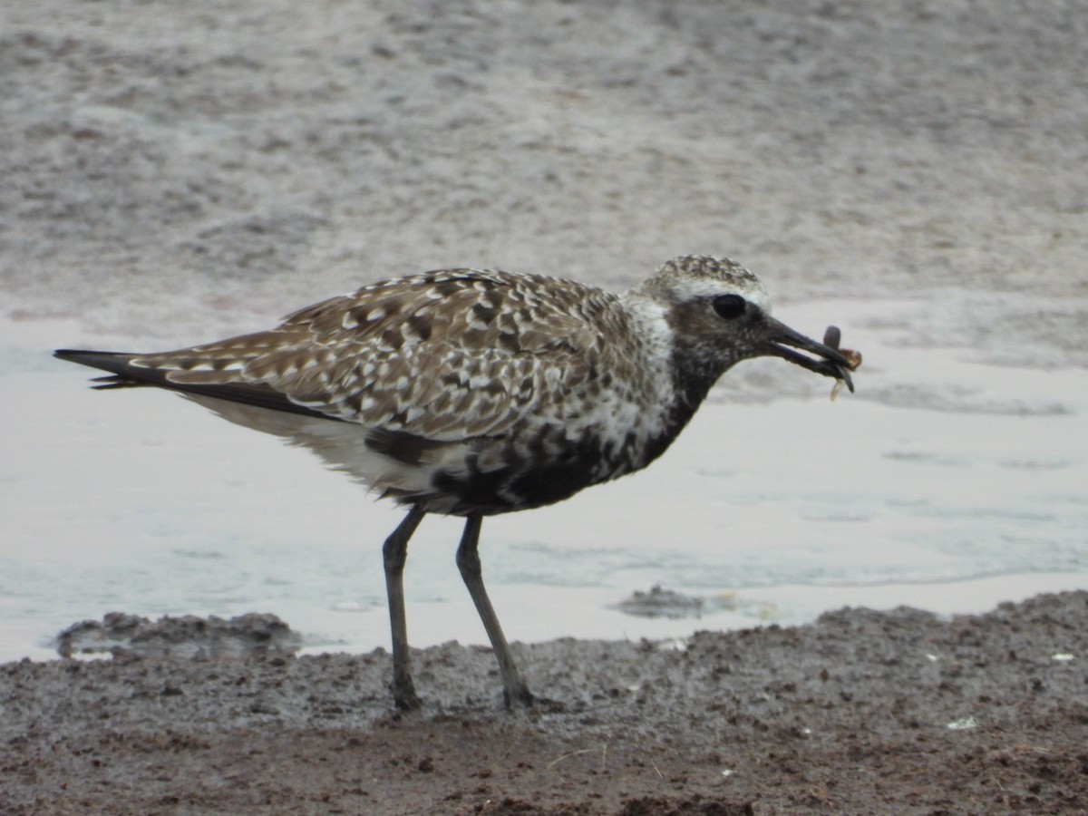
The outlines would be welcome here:
[[[24,660],[0,668],[0,811],[1088,812],[1088,593],[941,620],[844,609],[687,650],[519,646],[552,702],[508,713],[486,650]]]

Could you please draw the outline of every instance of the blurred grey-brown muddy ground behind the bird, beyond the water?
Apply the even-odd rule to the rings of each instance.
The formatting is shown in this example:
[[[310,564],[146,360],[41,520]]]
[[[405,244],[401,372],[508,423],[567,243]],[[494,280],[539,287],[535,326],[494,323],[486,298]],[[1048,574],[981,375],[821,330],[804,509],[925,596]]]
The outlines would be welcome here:
[[[1085,8],[7,3],[5,308],[187,339],[375,276],[712,251],[1083,363]]]

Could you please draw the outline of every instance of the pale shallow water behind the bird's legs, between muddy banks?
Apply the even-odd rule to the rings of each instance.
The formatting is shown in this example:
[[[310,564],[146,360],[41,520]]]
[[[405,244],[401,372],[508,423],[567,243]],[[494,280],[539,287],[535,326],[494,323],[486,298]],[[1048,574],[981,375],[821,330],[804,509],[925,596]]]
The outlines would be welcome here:
[[[856,394],[831,403],[830,381],[743,363],[646,471],[489,519],[508,636],[682,638],[844,604],[976,611],[1088,586],[1084,371],[1040,368],[1041,349],[1010,364],[927,346],[905,326],[930,311],[782,308],[811,334],[843,326],[865,354]],[[309,652],[387,645],[380,548],[397,508],[305,450],[174,395],[94,392],[89,369],[48,356],[141,338],[30,321],[0,339],[0,659],[53,656],[61,629],[111,610],[267,611]],[[453,562],[460,523],[429,517],[412,541],[413,645],[485,642]],[[701,617],[616,608],[654,585],[702,599]]]

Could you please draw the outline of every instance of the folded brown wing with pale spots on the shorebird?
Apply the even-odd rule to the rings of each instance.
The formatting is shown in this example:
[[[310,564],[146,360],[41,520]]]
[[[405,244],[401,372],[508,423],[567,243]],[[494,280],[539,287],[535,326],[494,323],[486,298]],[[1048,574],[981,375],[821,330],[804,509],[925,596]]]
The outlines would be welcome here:
[[[268,332],[129,358],[158,384],[434,441],[494,435],[599,367],[615,297],[553,279],[445,270],[387,281]],[[250,395],[252,399],[248,399]]]

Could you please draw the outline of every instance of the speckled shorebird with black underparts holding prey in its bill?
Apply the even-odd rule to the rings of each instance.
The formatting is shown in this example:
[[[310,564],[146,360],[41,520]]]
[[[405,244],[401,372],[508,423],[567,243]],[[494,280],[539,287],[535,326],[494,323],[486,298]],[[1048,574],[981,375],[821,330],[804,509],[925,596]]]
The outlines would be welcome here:
[[[404,597],[426,514],[462,517],[456,564],[498,662],[507,707],[530,692],[484,588],[483,518],[561,502],[645,468],[735,363],[780,357],[854,390],[855,367],[771,317],[728,258],[667,261],[622,294],[541,274],[443,269],[362,286],[270,331],[173,351],[58,349],[316,452],[407,508],[382,548],[393,702],[417,709]],[[845,349],[844,349],[845,351]]]

